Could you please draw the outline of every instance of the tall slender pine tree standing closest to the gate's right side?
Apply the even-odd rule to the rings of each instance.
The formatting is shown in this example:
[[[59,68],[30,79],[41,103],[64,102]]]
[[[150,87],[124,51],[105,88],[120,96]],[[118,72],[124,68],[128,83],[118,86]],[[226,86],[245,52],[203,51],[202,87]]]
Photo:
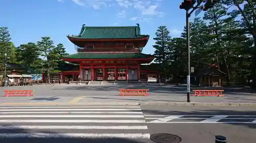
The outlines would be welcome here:
[[[169,31],[167,30],[166,26],[159,26],[156,32],[156,37],[153,38],[156,40],[156,44],[153,45],[155,48],[155,62],[159,63],[161,66],[160,71],[164,73],[164,78],[166,81],[166,70],[168,69],[168,52],[169,52],[169,45],[171,37],[169,36]],[[165,82],[164,81],[164,82]]]

